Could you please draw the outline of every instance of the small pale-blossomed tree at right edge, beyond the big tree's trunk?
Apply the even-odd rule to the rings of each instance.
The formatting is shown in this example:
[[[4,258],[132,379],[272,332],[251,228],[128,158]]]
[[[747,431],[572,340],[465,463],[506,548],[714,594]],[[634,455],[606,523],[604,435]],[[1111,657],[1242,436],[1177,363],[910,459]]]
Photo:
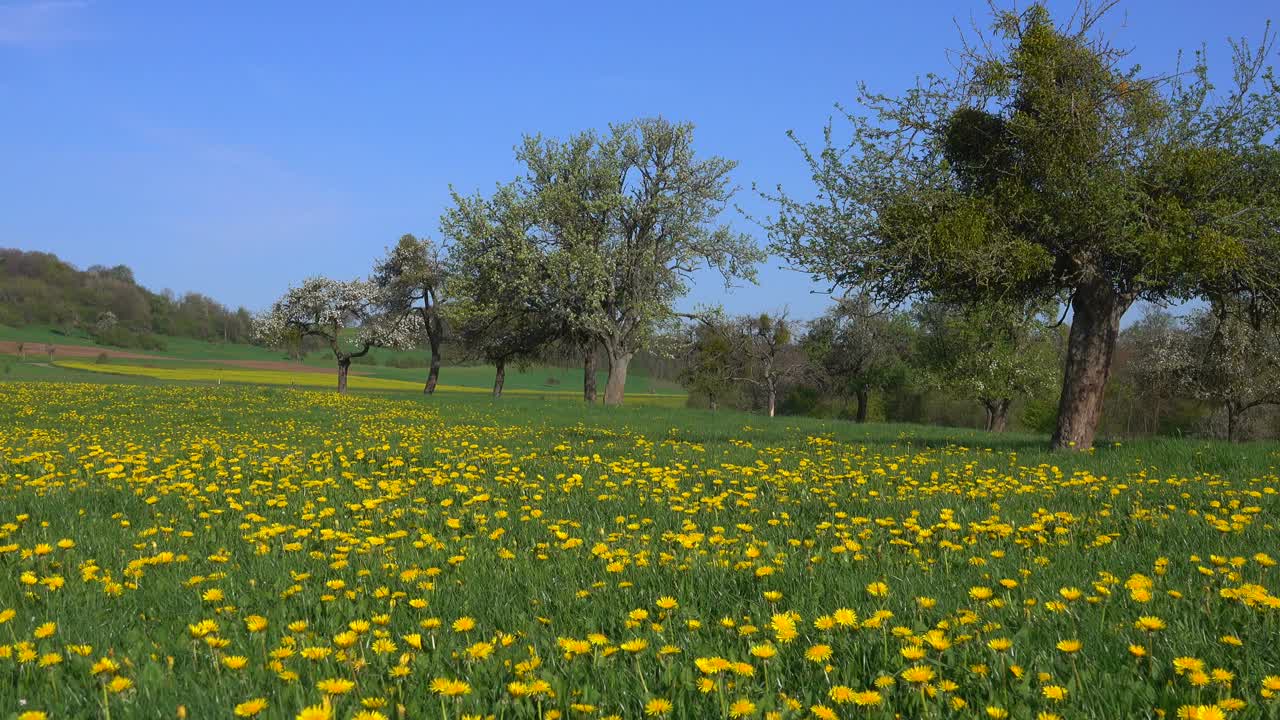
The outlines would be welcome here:
[[[1226,415],[1226,439],[1240,439],[1244,414],[1280,405],[1280,322],[1240,299],[1196,310],[1185,332],[1164,352],[1185,392]]]

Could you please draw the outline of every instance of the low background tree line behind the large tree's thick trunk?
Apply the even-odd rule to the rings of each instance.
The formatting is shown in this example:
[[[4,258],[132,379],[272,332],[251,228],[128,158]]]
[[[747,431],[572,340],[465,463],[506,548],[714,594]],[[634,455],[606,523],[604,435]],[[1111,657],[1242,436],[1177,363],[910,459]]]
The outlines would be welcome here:
[[[1047,434],[1069,342],[1048,310],[876,309],[863,296],[809,322],[712,315],[673,345],[695,407]],[[1117,338],[1100,434],[1280,437],[1280,327],[1244,313],[1147,306]]]

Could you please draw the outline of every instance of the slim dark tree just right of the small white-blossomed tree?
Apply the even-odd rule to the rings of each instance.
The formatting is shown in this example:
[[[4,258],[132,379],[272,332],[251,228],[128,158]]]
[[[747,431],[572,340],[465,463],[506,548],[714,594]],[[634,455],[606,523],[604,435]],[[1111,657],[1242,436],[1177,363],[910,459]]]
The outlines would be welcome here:
[[[444,292],[444,261],[435,243],[412,234],[401,236],[396,247],[374,269],[374,283],[393,314],[415,313],[426,332],[431,348],[431,369],[422,392],[435,392],[440,378],[440,343],[444,341],[444,313],[440,309]]]

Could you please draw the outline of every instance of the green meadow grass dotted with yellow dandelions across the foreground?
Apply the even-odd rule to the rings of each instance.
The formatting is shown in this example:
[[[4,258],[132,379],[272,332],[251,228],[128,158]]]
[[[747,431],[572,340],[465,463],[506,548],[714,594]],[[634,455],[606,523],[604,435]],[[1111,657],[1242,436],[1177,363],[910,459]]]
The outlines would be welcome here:
[[[1280,714],[1274,443],[232,384],[0,406],[0,717]]]

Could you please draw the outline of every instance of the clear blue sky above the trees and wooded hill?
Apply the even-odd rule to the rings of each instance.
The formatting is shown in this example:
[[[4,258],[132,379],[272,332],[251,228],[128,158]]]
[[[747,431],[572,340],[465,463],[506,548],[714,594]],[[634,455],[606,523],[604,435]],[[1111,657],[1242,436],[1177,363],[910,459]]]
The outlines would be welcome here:
[[[1130,0],[1108,24],[1149,70],[1202,42],[1221,68],[1226,37],[1277,10]],[[946,69],[970,17],[986,3],[0,0],[0,246],[259,309],[434,236],[449,184],[511,178],[522,133],[655,114],[737,160],[741,204],[767,213],[753,182],[808,187],[787,129],[819,138],[859,81]],[[686,305],[819,313],[778,265]]]

